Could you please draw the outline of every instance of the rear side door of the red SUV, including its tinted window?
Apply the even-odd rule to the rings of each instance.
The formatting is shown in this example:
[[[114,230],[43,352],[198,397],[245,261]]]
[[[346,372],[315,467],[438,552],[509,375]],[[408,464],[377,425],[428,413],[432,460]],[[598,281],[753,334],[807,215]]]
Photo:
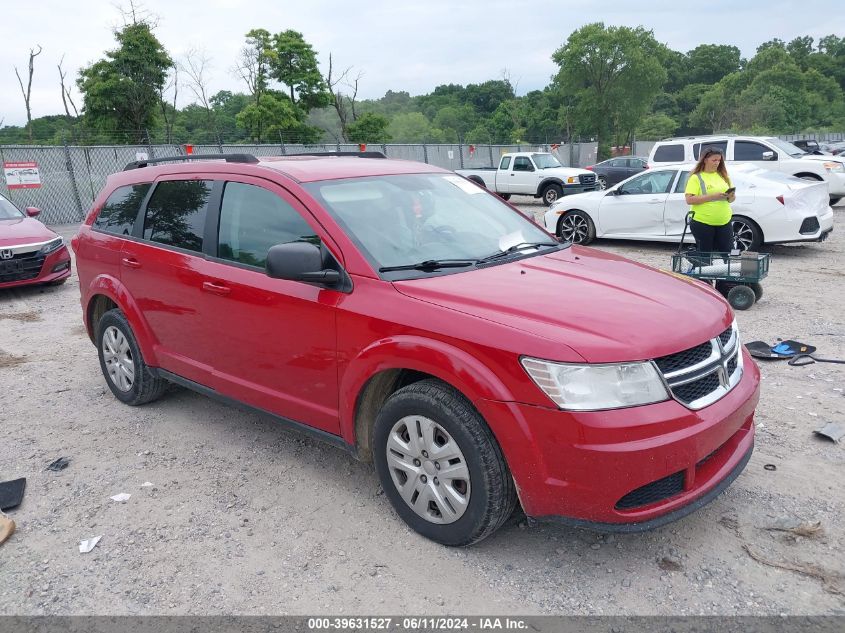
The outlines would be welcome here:
[[[121,281],[153,336],[158,365],[208,384],[201,360],[205,328],[199,311],[201,262],[209,207],[220,185],[211,180],[160,180],[121,253]]]

